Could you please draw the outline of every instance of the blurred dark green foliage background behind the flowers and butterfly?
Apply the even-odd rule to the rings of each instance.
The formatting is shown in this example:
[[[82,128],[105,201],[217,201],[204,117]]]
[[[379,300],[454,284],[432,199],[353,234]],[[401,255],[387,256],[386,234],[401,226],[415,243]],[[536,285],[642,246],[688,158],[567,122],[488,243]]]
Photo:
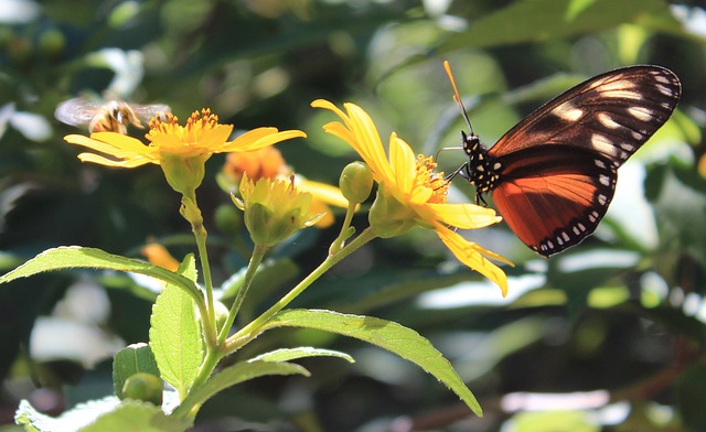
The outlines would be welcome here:
[[[181,118],[211,107],[238,130],[304,130],[309,139],[278,148],[298,174],[335,184],[354,154],[323,133],[321,126],[332,119],[309,107],[315,98],[355,101],[384,139],[395,130],[416,150],[435,154],[458,145],[463,128],[443,60],[468,97],[474,131],[489,144],[589,76],[639,63],[671,68],[683,82],[678,111],[621,170],[611,210],[593,237],[547,261],[503,226],[473,233],[474,241],[516,264],[506,269],[506,300],[424,230],[374,242],[298,299],[298,306],[376,315],[429,337],[479,398],[483,419],[387,353],[314,331],[279,331],[243,355],[282,344],[315,345],[351,353],[356,364],[311,360],[311,378],[235,387],[203,408],[199,430],[703,430],[702,7],[663,0],[2,3],[3,270],[60,245],[139,256],[157,239],[180,258],[193,250],[178,213],[180,197],[160,170],[82,165],[77,150],[63,141],[76,130],[57,122],[53,110],[79,94],[168,104]],[[446,171],[462,161],[461,152],[440,154]],[[223,162],[210,161],[200,202],[217,257],[216,282],[227,287],[246,263],[247,244],[238,217],[224,216],[223,206],[232,204],[215,182]],[[453,198],[473,196],[470,186],[456,182]],[[222,217],[214,217],[216,210]],[[335,235],[335,226],[312,228],[278,247],[243,317],[307,274]],[[107,293],[105,316],[86,321],[104,341],[147,339],[153,294],[145,281],[63,272],[2,287],[0,422],[12,423],[22,398],[55,414],[95,397],[96,389],[110,391],[108,360],[94,366],[76,353],[38,354],[40,317],[77,320],[60,307],[77,283]],[[90,298],[79,302],[84,312],[98,307]],[[76,337],[53,335],[64,343]],[[596,399],[596,390],[608,396]],[[532,392],[566,393],[559,398],[565,403],[533,399]]]

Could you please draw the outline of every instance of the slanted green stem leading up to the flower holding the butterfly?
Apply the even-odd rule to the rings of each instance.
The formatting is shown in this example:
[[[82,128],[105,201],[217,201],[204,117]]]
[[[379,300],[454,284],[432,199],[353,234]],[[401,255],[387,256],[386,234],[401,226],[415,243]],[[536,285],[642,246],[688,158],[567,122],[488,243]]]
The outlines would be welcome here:
[[[265,325],[277,312],[285,309],[285,306],[287,306],[292,300],[301,294],[303,290],[309,288],[309,285],[311,285],[323,273],[329,271],[329,269],[331,269],[333,266],[339,263],[339,261],[353,253],[363,245],[366,245],[376,237],[377,235],[375,234],[375,231],[373,231],[373,229],[368,227],[336,253],[329,255],[319,267],[317,267],[307,278],[304,278],[295,288],[292,288],[291,291],[285,294],[285,296],[282,296],[270,309],[263,312],[260,316],[253,320],[248,325],[240,328],[233,336],[228,337],[223,345],[224,352],[226,354],[231,354],[255,338],[259,334],[259,330],[261,328],[261,326]]]

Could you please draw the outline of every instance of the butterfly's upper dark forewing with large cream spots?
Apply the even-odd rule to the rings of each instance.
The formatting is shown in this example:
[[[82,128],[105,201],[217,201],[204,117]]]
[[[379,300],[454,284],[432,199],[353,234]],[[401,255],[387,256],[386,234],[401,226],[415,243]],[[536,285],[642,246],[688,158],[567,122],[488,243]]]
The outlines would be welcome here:
[[[588,79],[552,99],[505,133],[489,154],[536,145],[588,149],[620,166],[666,122],[681,95],[676,75],[631,66]]]

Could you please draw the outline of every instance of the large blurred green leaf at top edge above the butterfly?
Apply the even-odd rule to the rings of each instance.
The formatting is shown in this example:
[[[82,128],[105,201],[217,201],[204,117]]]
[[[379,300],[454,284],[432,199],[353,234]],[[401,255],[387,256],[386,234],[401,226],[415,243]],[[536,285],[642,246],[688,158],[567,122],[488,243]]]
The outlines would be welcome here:
[[[628,23],[681,32],[680,23],[662,0],[524,0],[475,21],[439,51],[534,43]]]

